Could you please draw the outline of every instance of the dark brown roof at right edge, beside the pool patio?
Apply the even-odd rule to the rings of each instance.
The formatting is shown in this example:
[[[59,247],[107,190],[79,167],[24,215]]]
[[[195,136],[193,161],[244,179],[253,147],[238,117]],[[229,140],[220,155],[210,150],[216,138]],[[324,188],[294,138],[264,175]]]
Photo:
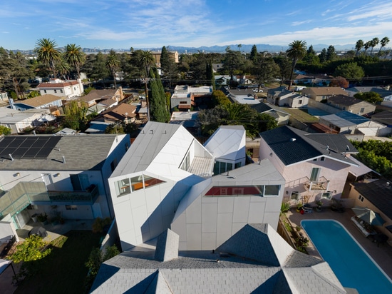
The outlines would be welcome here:
[[[392,219],[392,183],[379,179],[370,183],[353,183],[354,188],[376,208]]]

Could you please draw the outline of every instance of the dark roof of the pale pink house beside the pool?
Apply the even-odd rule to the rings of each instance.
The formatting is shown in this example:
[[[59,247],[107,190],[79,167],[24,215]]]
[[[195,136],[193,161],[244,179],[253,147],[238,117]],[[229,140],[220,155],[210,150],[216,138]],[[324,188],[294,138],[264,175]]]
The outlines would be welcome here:
[[[355,165],[346,157],[346,153],[356,153],[356,148],[340,134],[306,133],[290,126],[282,126],[260,133],[260,136],[285,166],[319,156]],[[346,150],[347,146],[349,151]]]

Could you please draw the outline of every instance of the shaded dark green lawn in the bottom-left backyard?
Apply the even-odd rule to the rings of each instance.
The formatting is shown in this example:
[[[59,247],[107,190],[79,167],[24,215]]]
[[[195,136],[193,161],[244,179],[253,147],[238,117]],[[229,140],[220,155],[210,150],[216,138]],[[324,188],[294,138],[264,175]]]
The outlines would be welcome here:
[[[71,230],[53,240],[51,254],[34,262],[37,272],[24,279],[15,293],[86,293],[85,263],[100,237],[88,230]]]

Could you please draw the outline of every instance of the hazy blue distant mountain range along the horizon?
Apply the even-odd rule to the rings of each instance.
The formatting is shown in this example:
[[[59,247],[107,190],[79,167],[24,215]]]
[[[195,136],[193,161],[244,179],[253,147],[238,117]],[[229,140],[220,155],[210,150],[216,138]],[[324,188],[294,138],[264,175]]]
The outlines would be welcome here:
[[[308,44],[310,46],[312,44]],[[245,53],[249,53],[252,50],[253,45],[241,45],[238,47],[237,44],[235,45],[226,45],[226,46],[200,46],[200,47],[185,47],[185,46],[167,46],[166,48],[170,51],[177,51],[179,54],[182,53],[197,53],[197,52],[215,52],[215,53],[224,53],[227,49],[227,46],[230,47],[232,50],[239,50]],[[277,45],[268,45],[268,44],[257,44],[257,51],[263,52],[281,52],[286,51],[289,46],[277,46]],[[329,45],[326,44],[314,44],[313,49],[315,51],[321,51],[322,49],[328,49]],[[335,51],[349,51],[355,50],[355,44],[346,44],[346,45],[334,45]],[[62,48],[61,48],[62,49]],[[162,47],[155,47],[155,48],[135,48],[135,50],[150,50],[150,51],[160,51]],[[91,49],[91,48],[83,48],[83,51],[87,54],[94,54],[98,53],[99,51],[102,53],[108,53],[111,49]],[[34,54],[34,51],[31,50],[13,50],[13,51],[20,51],[22,54]],[[130,51],[130,49],[115,49],[118,52],[126,52]]]

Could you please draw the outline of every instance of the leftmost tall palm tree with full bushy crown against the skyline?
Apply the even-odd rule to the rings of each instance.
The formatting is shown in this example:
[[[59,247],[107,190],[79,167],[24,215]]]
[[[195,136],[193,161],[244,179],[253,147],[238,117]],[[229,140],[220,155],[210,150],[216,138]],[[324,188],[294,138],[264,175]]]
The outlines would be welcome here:
[[[61,53],[56,47],[56,41],[43,38],[36,41],[36,47],[34,48],[38,61],[48,66],[49,71],[53,72],[55,78],[56,62],[61,60]]]

